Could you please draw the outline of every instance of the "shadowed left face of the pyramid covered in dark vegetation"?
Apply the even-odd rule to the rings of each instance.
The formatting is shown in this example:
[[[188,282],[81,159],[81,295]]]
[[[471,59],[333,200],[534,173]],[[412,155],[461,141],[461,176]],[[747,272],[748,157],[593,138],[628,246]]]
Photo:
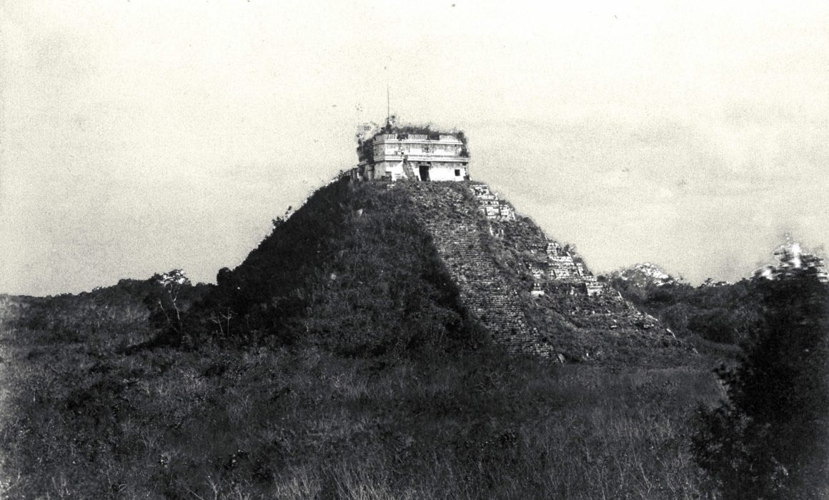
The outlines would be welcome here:
[[[484,339],[408,197],[346,179],[275,220],[236,269],[221,269],[190,323],[196,335],[351,355]]]

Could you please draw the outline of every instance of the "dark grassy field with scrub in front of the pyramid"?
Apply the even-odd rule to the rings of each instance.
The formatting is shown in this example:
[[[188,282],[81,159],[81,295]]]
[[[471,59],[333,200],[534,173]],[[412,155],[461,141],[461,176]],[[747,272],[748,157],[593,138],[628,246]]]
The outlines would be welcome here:
[[[696,404],[721,396],[705,363],[211,344],[125,354],[146,329],[61,337],[12,324],[0,323],[3,498],[708,495],[688,450]]]

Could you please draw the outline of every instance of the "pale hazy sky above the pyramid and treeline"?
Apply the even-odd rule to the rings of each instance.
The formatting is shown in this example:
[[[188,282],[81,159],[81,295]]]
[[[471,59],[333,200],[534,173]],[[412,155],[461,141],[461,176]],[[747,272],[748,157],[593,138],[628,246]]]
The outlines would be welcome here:
[[[0,292],[212,282],[391,111],[595,272],[829,244],[829,2],[0,0]]]

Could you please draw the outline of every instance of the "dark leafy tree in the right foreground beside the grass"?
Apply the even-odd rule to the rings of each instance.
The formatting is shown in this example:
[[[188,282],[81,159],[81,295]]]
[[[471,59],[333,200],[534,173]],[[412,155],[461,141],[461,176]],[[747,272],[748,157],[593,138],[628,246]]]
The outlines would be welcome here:
[[[816,269],[757,278],[764,318],[733,369],[727,400],[697,410],[696,462],[723,498],[829,495],[829,290]]]

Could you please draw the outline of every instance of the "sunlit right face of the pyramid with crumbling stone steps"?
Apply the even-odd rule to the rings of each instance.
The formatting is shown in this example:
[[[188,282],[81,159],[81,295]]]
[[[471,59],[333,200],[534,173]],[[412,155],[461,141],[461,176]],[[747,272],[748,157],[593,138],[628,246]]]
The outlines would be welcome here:
[[[606,289],[577,255],[481,182],[397,182],[433,236],[464,305],[508,352],[613,362],[681,342]],[[667,351],[666,351],[667,349]]]

